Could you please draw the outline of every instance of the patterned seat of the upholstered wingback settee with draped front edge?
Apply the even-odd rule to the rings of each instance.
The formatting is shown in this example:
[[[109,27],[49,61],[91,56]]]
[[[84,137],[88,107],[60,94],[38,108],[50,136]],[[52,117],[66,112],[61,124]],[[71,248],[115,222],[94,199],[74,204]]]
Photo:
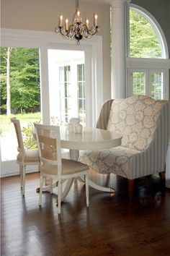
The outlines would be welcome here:
[[[140,153],[138,150],[122,146],[109,150],[85,150],[81,151],[79,161],[86,163],[100,174],[114,173],[127,178],[133,157]]]

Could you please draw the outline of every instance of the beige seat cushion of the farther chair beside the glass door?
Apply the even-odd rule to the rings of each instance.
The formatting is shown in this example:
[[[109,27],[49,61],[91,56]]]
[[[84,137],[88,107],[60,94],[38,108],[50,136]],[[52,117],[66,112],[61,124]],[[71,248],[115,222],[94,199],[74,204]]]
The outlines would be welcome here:
[[[24,156],[24,162],[38,162],[40,161],[39,153],[37,149],[27,149],[24,150],[25,156]],[[17,161],[22,161],[22,153],[19,153],[17,155]]]

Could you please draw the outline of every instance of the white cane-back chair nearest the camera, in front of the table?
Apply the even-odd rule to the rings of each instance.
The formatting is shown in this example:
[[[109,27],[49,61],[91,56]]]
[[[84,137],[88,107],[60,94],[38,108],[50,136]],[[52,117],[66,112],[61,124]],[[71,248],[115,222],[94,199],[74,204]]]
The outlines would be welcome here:
[[[42,187],[45,178],[50,178],[50,193],[53,193],[53,180],[58,184],[58,214],[61,213],[62,184],[68,179],[85,176],[86,206],[89,207],[89,166],[71,159],[61,158],[60,127],[43,124],[35,125],[35,135],[40,155],[40,198],[42,205]]]

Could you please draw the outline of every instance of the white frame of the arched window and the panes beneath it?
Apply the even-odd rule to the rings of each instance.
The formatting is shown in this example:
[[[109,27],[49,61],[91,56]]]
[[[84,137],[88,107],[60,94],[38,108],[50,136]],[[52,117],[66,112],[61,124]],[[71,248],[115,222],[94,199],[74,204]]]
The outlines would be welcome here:
[[[127,54],[126,67],[127,67],[127,96],[132,95],[132,72],[146,72],[146,94],[150,95],[151,88],[151,72],[163,72],[164,74],[164,99],[169,99],[169,51],[166,43],[166,38],[161,26],[158,24],[156,19],[146,9],[139,7],[136,4],[128,4],[127,7]],[[129,55],[129,38],[130,31],[129,27],[129,9],[133,9],[135,12],[146,17],[148,22],[151,23],[153,29],[156,31],[158,40],[161,46],[162,58],[161,59],[146,59],[146,58],[130,58]]]

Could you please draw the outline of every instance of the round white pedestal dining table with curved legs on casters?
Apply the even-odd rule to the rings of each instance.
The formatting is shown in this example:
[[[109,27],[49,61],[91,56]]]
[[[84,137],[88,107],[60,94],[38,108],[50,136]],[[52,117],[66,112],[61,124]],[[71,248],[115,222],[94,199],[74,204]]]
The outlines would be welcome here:
[[[114,148],[121,145],[121,142],[121,135],[105,129],[84,127],[81,133],[71,133],[68,132],[67,127],[61,127],[61,148],[69,149],[71,159],[76,161],[78,161],[79,158],[79,150],[102,150]],[[79,180],[84,182],[84,179],[81,179],[81,177],[79,177]],[[61,200],[66,197],[72,184],[73,179],[68,179],[66,188],[62,192]],[[89,186],[100,191],[111,192],[112,194],[115,193],[114,188],[100,186],[91,179],[89,179]]]

